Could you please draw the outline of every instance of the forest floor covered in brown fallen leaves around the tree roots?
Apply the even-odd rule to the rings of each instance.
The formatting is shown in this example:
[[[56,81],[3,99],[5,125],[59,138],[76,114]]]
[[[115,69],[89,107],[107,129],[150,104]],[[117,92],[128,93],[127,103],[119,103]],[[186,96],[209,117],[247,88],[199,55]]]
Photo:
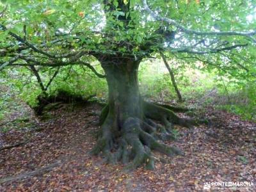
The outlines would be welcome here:
[[[0,150],[0,191],[202,191],[206,182],[244,181],[254,186],[237,191],[256,191],[256,124],[236,115],[205,109],[216,123],[176,126],[181,135],[168,142],[185,156],[166,157],[154,171],[128,172],[88,154],[97,141],[99,104],[60,106],[45,119],[24,106],[26,118],[16,113],[0,122],[0,148],[21,143]]]

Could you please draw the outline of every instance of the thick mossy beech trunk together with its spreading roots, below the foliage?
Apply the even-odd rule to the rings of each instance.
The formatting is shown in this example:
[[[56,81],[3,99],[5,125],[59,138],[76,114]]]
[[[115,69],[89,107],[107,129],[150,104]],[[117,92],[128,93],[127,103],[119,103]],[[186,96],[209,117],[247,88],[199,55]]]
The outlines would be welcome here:
[[[136,168],[147,164],[154,168],[151,150],[168,156],[182,154],[159,140],[173,139],[172,124],[190,126],[195,120],[179,118],[173,111],[143,101],[138,88],[140,61],[99,59],[108,81],[108,106],[100,115],[100,134],[92,154],[102,154],[109,163],[128,164]],[[164,127],[153,122],[163,122]]]

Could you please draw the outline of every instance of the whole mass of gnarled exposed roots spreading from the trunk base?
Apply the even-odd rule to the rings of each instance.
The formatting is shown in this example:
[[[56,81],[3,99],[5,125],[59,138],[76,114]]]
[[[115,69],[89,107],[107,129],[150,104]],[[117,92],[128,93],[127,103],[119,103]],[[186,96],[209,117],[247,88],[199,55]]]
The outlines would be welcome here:
[[[205,122],[180,118],[170,109],[149,102],[143,102],[143,115],[143,119],[128,117],[124,123],[120,123],[118,116],[111,115],[109,106],[106,105],[100,115],[99,140],[92,154],[102,155],[106,163],[121,161],[127,164],[128,169],[137,168],[141,164],[145,164],[148,169],[154,169],[156,158],[152,150],[171,157],[183,155],[178,148],[163,143],[164,140],[175,140],[173,124],[191,127]],[[163,122],[164,126],[153,120]]]

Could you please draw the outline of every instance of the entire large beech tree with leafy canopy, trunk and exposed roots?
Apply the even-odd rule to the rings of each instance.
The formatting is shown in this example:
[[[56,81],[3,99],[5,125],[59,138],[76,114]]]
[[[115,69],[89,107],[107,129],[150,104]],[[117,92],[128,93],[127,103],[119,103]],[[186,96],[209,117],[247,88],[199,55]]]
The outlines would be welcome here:
[[[42,67],[56,67],[56,76],[61,66],[84,65],[106,77],[108,105],[100,115],[99,140],[92,153],[111,163],[154,168],[152,150],[182,155],[163,143],[173,138],[173,124],[191,127],[204,122],[180,118],[175,108],[143,100],[138,87],[142,60],[161,52],[188,63],[200,61],[205,68],[255,77],[253,0],[2,0],[0,7],[1,70],[29,67],[40,83]],[[93,60],[105,74],[90,65]],[[40,86],[47,92],[49,84]]]

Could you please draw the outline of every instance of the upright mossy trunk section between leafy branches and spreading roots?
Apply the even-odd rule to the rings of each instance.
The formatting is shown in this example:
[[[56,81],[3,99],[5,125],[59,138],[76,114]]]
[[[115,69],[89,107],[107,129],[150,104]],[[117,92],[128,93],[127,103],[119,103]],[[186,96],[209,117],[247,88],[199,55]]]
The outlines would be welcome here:
[[[138,66],[136,61],[102,65],[109,88],[109,115],[122,127],[128,117],[142,118],[141,98],[138,88]]]

